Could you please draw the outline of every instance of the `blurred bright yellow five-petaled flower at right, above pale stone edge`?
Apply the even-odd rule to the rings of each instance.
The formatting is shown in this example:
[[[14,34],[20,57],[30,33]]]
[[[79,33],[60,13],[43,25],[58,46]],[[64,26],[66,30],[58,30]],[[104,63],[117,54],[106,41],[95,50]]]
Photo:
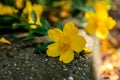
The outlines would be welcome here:
[[[96,36],[100,39],[105,39],[109,34],[109,30],[116,25],[116,21],[108,16],[106,10],[86,12],[85,18],[87,21],[86,32],[90,35],[96,33]]]

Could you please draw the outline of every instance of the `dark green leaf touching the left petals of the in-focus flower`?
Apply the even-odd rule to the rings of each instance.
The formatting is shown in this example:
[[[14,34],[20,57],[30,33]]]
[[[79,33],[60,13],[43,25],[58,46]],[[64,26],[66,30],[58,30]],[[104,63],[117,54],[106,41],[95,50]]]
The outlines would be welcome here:
[[[34,53],[45,52],[47,50],[47,46],[52,44],[52,43],[54,43],[54,42],[50,41],[50,42],[44,43],[43,45],[38,46],[37,48],[35,48]]]

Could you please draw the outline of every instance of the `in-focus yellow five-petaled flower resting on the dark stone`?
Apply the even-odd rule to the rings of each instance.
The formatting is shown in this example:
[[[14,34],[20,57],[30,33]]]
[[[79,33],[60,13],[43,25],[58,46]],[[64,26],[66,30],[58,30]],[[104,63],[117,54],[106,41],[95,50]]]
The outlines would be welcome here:
[[[64,63],[71,62],[74,59],[74,52],[81,52],[86,44],[86,40],[78,35],[78,29],[72,22],[65,24],[63,32],[58,28],[49,30],[48,36],[54,43],[47,47],[47,55],[60,56],[59,60]]]

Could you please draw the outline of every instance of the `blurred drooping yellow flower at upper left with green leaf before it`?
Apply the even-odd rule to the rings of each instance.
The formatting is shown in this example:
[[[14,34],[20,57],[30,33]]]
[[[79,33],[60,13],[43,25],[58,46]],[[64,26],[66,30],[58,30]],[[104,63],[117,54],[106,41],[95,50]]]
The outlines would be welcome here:
[[[32,11],[35,11],[35,13],[36,13],[35,24],[42,26],[42,24],[40,22],[40,16],[43,12],[43,7],[40,4],[33,4],[32,5],[32,3],[29,0],[27,0],[26,7],[23,10],[23,14],[28,14],[28,23],[34,24],[34,20],[32,17]],[[32,25],[31,28],[36,28],[36,26]]]

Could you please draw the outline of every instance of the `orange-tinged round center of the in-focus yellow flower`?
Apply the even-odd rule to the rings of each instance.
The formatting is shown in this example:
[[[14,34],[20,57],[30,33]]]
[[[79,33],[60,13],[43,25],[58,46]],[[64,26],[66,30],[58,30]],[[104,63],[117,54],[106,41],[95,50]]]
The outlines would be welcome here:
[[[71,46],[71,39],[69,36],[62,36],[58,42],[58,46],[60,49],[66,51]]]

